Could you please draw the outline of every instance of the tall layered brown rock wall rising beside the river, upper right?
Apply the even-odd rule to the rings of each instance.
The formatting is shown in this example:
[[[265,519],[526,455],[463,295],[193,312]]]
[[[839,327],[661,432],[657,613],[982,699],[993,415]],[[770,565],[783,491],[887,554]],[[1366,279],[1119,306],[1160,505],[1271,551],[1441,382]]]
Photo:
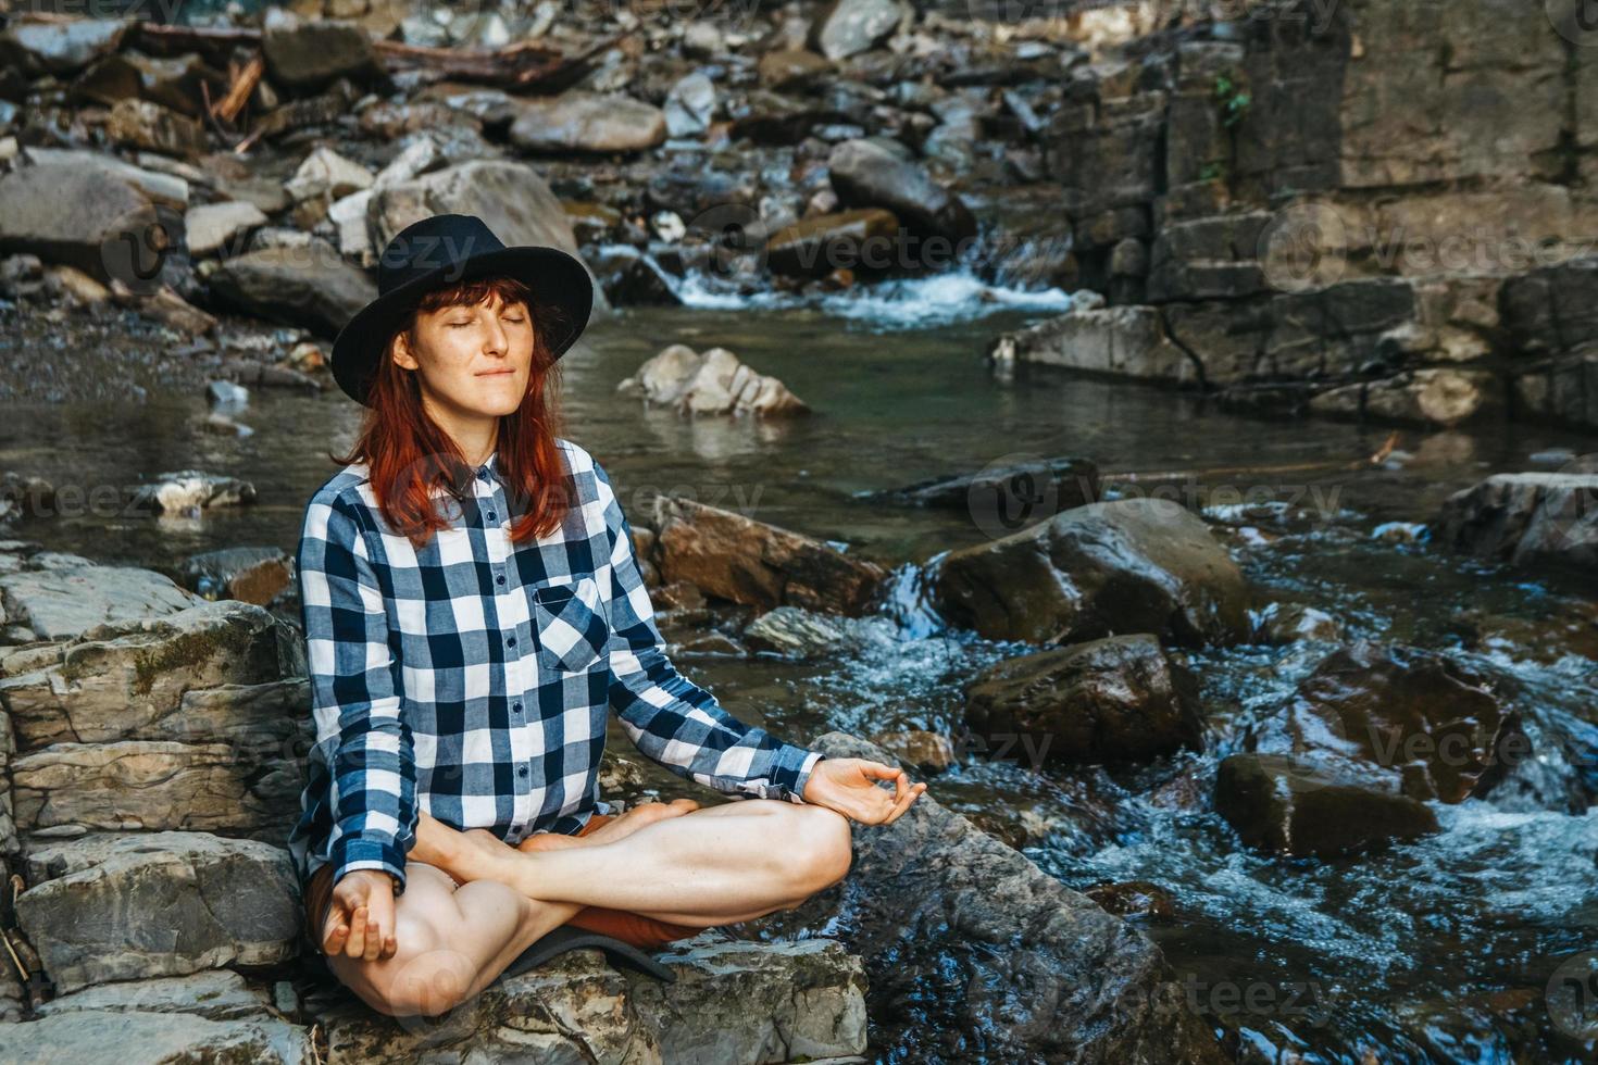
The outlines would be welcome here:
[[[1507,0],[1288,2],[1079,67],[1047,171],[1080,284],[1147,310],[994,354],[1330,414],[1598,425],[1582,43]]]

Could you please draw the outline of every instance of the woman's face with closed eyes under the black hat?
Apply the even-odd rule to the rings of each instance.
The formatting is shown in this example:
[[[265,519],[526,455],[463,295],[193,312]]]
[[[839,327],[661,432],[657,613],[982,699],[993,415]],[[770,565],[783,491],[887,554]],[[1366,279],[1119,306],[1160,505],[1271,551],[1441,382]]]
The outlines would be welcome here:
[[[415,370],[425,404],[446,422],[513,414],[532,372],[532,316],[521,302],[489,292],[475,307],[422,311],[415,345],[401,332],[393,359]]]

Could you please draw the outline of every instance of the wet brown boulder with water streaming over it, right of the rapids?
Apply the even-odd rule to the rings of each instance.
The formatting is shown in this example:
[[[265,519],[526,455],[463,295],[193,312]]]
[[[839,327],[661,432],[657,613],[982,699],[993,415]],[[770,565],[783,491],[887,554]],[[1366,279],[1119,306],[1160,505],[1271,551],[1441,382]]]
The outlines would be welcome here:
[[[1529,757],[1518,715],[1485,679],[1433,651],[1369,642],[1322,659],[1251,746],[1347,758],[1393,792],[1445,803],[1488,794]]]

